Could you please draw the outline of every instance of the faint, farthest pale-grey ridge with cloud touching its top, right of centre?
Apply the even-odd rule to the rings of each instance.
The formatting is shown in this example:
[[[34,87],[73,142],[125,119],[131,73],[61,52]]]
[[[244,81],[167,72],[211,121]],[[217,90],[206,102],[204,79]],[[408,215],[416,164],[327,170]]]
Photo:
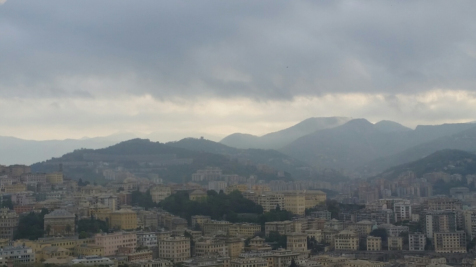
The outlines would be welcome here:
[[[256,136],[252,134],[235,133],[223,138],[220,143],[236,148],[261,148],[261,149],[277,149],[288,143],[293,142],[297,138],[316,131],[333,128],[342,125],[352,118],[348,117],[319,117],[308,118],[289,128]]]

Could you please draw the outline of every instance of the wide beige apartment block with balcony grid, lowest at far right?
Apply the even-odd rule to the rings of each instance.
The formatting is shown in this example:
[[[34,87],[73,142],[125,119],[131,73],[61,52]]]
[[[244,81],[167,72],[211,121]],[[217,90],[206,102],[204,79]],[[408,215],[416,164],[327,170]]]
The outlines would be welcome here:
[[[435,252],[438,253],[466,253],[465,231],[433,232]]]

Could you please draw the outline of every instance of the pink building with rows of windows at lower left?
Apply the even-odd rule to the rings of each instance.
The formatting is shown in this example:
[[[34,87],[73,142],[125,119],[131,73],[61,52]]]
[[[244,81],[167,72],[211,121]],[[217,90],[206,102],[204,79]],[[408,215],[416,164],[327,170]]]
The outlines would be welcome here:
[[[104,247],[104,256],[115,255],[119,248],[136,248],[136,232],[119,231],[112,234],[100,233],[94,237],[96,246]]]

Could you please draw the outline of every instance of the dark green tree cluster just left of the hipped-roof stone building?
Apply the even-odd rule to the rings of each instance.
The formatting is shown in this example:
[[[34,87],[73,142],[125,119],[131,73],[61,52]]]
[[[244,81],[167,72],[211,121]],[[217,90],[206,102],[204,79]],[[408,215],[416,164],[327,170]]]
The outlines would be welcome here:
[[[37,240],[45,234],[43,218],[48,214],[47,209],[42,209],[40,214],[30,212],[26,216],[20,216],[18,229],[13,233],[13,239]]]

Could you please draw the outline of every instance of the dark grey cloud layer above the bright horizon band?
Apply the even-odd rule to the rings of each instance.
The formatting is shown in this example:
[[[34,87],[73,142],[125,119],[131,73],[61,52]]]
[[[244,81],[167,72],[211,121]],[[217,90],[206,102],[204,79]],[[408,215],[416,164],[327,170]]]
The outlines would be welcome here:
[[[8,0],[0,6],[0,95],[266,100],[474,90],[475,8],[474,1]]]

